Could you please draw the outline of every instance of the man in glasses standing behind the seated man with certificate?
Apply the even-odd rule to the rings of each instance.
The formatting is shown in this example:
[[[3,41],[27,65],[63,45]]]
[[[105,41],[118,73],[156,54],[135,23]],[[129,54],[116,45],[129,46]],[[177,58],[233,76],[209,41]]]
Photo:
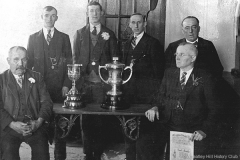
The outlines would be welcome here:
[[[183,39],[170,43],[165,51],[166,68],[176,67],[175,53],[178,45],[182,42],[194,44],[198,49],[198,57],[195,67],[206,70],[214,76],[222,77],[223,66],[218,57],[216,48],[211,41],[198,36],[200,32],[199,20],[196,17],[188,16],[182,21]]]

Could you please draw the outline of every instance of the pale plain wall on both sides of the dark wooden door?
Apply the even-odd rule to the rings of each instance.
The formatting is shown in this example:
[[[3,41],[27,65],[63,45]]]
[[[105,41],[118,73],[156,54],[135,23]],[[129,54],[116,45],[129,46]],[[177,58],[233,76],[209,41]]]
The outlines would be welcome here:
[[[240,45],[236,48],[239,0],[166,1],[165,48],[183,37],[181,20],[188,15],[196,16],[200,20],[200,36],[214,43],[224,70],[239,68]],[[71,42],[76,30],[86,24],[87,0],[0,0],[0,73],[8,68],[9,48],[26,47],[29,35],[42,28],[42,8],[47,5],[58,10],[55,27],[68,34]]]

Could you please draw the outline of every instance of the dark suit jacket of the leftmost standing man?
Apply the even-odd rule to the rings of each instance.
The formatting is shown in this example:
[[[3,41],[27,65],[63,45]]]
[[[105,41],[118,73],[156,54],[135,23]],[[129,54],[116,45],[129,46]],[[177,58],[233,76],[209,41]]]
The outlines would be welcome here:
[[[40,72],[45,78],[47,74],[46,72],[50,70],[50,66],[44,65],[46,64],[44,63],[46,59],[46,57],[44,57],[44,41],[46,40],[43,34],[43,30],[30,35],[27,46],[27,53],[29,58],[27,67],[36,72]],[[65,33],[59,32],[55,28],[50,45],[52,45],[51,48],[53,48],[51,52],[55,52],[58,62],[57,69],[55,69],[57,72],[58,81],[55,83],[60,83],[59,86],[61,87],[67,86],[70,88],[71,81],[67,76],[67,64],[72,64],[72,50],[69,36]]]

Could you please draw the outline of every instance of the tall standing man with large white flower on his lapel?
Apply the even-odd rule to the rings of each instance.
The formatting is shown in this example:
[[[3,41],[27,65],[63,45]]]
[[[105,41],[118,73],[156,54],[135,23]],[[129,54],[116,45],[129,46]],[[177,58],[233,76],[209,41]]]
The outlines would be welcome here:
[[[102,15],[102,6],[99,3],[89,2],[87,5],[89,24],[77,30],[74,35],[73,60],[74,63],[82,64],[80,88],[87,103],[103,102],[110,86],[101,82],[98,67],[112,62],[112,57],[118,56],[117,39],[113,31],[100,23]],[[103,153],[105,143],[103,137],[106,136],[103,127],[107,126],[105,122],[103,123],[103,118],[97,115],[82,115],[81,127],[86,159],[98,160]]]

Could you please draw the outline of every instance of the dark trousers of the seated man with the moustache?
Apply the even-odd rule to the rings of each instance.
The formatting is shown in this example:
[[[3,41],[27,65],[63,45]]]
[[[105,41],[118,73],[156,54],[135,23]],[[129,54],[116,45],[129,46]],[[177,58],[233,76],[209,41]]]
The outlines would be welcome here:
[[[40,127],[31,136],[22,136],[11,128],[1,139],[3,160],[20,160],[19,148],[22,142],[29,144],[32,149],[32,160],[49,160],[48,136],[46,126]]]

